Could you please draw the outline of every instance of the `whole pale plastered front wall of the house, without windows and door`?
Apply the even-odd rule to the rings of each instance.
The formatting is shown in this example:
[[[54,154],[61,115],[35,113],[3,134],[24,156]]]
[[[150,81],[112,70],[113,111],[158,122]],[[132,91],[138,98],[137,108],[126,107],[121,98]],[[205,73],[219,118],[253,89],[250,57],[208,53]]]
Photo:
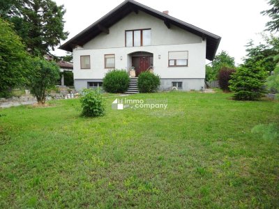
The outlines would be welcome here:
[[[125,31],[132,29],[151,29],[151,46],[125,47]],[[188,51],[188,67],[168,67],[168,52],[171,51]],[[167,29],[162,20],[140,11],[130,13],[110,27],[110,34],[101,33],[84,46],[73,49],[75,88],[78,91],[86,88],[87,79],[103,79],[108,72],[105,54],[115,54],[115,68],[127,69],[131,66],[129,54],[133,52],[153,54],[154,73],[160,75],[162,89],[170,87],[171,80],[176,79],[187,80],[187,84],[183,82],[183,90],[200,90],[204,85],[206,40],[173,25]],[[91,69],[80,69],[82,55],[90,55]]]

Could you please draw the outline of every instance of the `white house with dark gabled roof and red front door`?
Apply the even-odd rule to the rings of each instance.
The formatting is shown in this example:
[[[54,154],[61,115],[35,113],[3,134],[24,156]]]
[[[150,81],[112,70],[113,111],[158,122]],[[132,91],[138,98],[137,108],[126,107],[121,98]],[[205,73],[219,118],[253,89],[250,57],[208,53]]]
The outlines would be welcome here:
[[[160,75],[162,90],[204,88],[206,59],[220,36],[133,0],[126,0],[59,49],[73,52],[75,88],[102,86],[110,69]]]

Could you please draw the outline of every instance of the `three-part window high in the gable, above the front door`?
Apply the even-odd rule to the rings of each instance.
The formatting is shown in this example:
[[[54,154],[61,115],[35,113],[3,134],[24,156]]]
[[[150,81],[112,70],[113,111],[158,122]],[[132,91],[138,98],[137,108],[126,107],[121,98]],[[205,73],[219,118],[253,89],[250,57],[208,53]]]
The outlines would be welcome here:
[[[126,31],[126,47],[142,47],[151,45],[151,29]]]

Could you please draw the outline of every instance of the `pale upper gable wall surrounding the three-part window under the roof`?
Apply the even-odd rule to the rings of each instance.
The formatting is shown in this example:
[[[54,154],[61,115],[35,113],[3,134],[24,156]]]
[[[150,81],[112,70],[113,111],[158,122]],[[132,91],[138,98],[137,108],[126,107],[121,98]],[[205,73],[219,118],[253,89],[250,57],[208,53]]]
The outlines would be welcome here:
[[[163,20],[139,11],[138,14],[130,13],[130,15],[127,15],[110,27],[110,34],[100,33],[99,36],[83,45],[83,48],[104,49],[125,47],[125,31],[136,29],[151,29],[151,45],[153,46],[202,42],[202,38],[193,33],[174,25],[171,25],[171,29],[167,29]]]

